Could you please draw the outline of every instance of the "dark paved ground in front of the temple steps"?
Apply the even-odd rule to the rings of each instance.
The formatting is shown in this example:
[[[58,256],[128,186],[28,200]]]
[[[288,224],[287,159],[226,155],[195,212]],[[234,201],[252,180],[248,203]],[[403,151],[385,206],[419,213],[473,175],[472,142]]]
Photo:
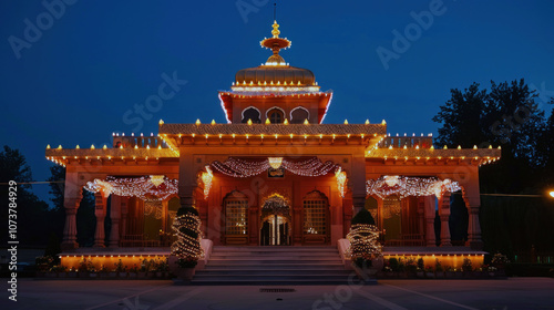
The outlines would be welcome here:
[[[8,300],[2,290],[0,309],[554,309],[554,279],[550,278],[380,280],[377,286],[291,287],[295,292],[260,292],[260,288],[266,287],[21,279],[18,301]]]

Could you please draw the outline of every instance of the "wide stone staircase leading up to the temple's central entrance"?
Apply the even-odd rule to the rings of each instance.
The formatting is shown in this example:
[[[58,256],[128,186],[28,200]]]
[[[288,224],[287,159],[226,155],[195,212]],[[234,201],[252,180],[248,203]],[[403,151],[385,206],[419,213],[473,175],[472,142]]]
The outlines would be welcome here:
[[[345,285],[350,273],[332,247],[214,247],[192,285]]]

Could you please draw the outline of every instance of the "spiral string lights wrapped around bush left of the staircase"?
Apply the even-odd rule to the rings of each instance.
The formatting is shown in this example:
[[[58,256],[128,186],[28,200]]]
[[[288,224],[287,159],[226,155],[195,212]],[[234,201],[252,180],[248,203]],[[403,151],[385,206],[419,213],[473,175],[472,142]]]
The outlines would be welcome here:
[[[187,214],[175,217],[172,229],[177,240],[172,245],[172,256],[179,259],[198,260],[204,257],[204,249],[201,247],[202,231],[201,218],[196,215]],[[193,238],[187,231],[197,234]]]

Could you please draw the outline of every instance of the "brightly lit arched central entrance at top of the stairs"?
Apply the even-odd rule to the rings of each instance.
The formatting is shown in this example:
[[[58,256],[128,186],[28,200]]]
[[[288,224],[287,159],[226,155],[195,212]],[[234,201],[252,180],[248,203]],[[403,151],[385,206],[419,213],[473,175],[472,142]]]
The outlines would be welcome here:
[[[267,198],[261,206],[260,246],[289,246],[290,207],[279,195]]]

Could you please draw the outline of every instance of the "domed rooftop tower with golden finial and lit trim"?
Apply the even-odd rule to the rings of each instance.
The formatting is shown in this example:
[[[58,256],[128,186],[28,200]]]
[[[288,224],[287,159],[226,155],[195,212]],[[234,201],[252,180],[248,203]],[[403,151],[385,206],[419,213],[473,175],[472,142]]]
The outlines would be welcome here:
[[[230,91],[219,92],[228,123],[320,124],[331,103],[332,92],[321,92],[310,70],[285,62],[280,50],[291,42],[279,38],[279,24],[273,24],[273,37],[260,45],[273,51],[265,64],[239,70]]]

